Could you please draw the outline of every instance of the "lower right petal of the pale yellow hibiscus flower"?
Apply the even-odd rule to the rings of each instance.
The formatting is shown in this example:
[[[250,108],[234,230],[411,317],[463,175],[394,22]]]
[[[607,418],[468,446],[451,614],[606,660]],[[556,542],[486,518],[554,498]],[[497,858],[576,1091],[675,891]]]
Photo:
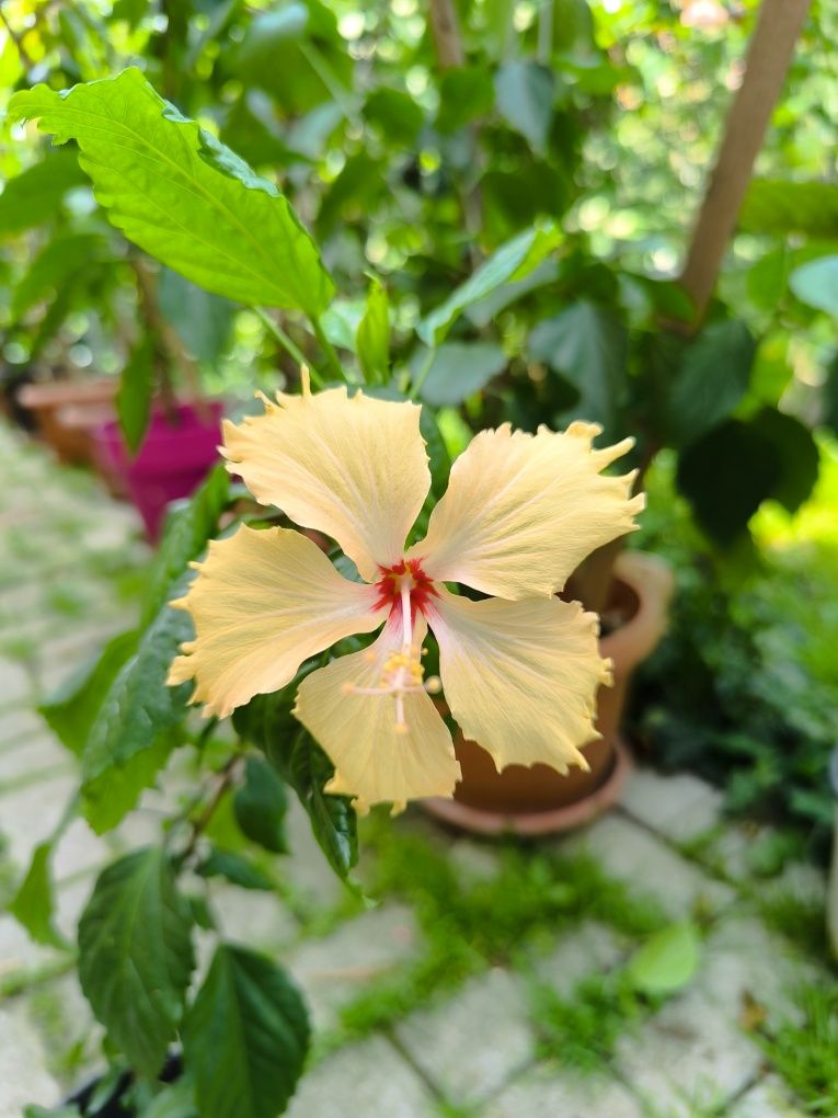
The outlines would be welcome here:
[[[498,771],[541,761],[587,768],[597,688],[610,683],[598,618],[559,598],[470,601],[442,590],[428,612],[445,701]]]

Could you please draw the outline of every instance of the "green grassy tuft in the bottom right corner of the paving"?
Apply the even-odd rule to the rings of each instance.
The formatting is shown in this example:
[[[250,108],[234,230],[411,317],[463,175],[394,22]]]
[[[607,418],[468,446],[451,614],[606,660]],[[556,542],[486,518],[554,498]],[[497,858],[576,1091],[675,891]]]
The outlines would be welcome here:
[[[794,998],[800,1017],[759,1036],[765,1055],[808,1115],[838,1114],[838,985],[804,986]]]

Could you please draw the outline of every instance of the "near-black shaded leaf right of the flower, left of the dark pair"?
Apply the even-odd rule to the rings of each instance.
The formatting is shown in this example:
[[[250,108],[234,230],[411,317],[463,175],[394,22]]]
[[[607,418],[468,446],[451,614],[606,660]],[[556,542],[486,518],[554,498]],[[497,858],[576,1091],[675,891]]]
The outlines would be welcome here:
[[[727,419],[678,459],[678,489],[708,536],[730,546],[774,491],[781,465],[772,443],[741,419]]]

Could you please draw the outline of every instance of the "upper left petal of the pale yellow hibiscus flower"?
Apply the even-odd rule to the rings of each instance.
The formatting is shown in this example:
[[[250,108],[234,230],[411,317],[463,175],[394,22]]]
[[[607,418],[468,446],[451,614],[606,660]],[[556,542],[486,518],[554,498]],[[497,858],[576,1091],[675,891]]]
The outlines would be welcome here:
[[[307,388],[307,386],[305,386]],[[402,557],[430,487],[415,404],[345,388],[277,395],[263,416],[225,424],[223,455],[261,504],[337,540],[368,581]]]

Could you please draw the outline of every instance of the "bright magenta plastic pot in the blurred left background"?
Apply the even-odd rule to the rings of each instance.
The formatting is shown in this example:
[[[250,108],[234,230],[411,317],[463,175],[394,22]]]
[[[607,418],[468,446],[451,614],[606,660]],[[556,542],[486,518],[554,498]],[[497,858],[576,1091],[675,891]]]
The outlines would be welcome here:
[[[116,420],[95,432],[96,456],[103,472],[116,472],[125,485],[149,539],[155,542],[170,501],[190,496],[219,461],[221,416],[218,401],[179,404],[173,415],[155,410],[140,453],[132,458]]]

